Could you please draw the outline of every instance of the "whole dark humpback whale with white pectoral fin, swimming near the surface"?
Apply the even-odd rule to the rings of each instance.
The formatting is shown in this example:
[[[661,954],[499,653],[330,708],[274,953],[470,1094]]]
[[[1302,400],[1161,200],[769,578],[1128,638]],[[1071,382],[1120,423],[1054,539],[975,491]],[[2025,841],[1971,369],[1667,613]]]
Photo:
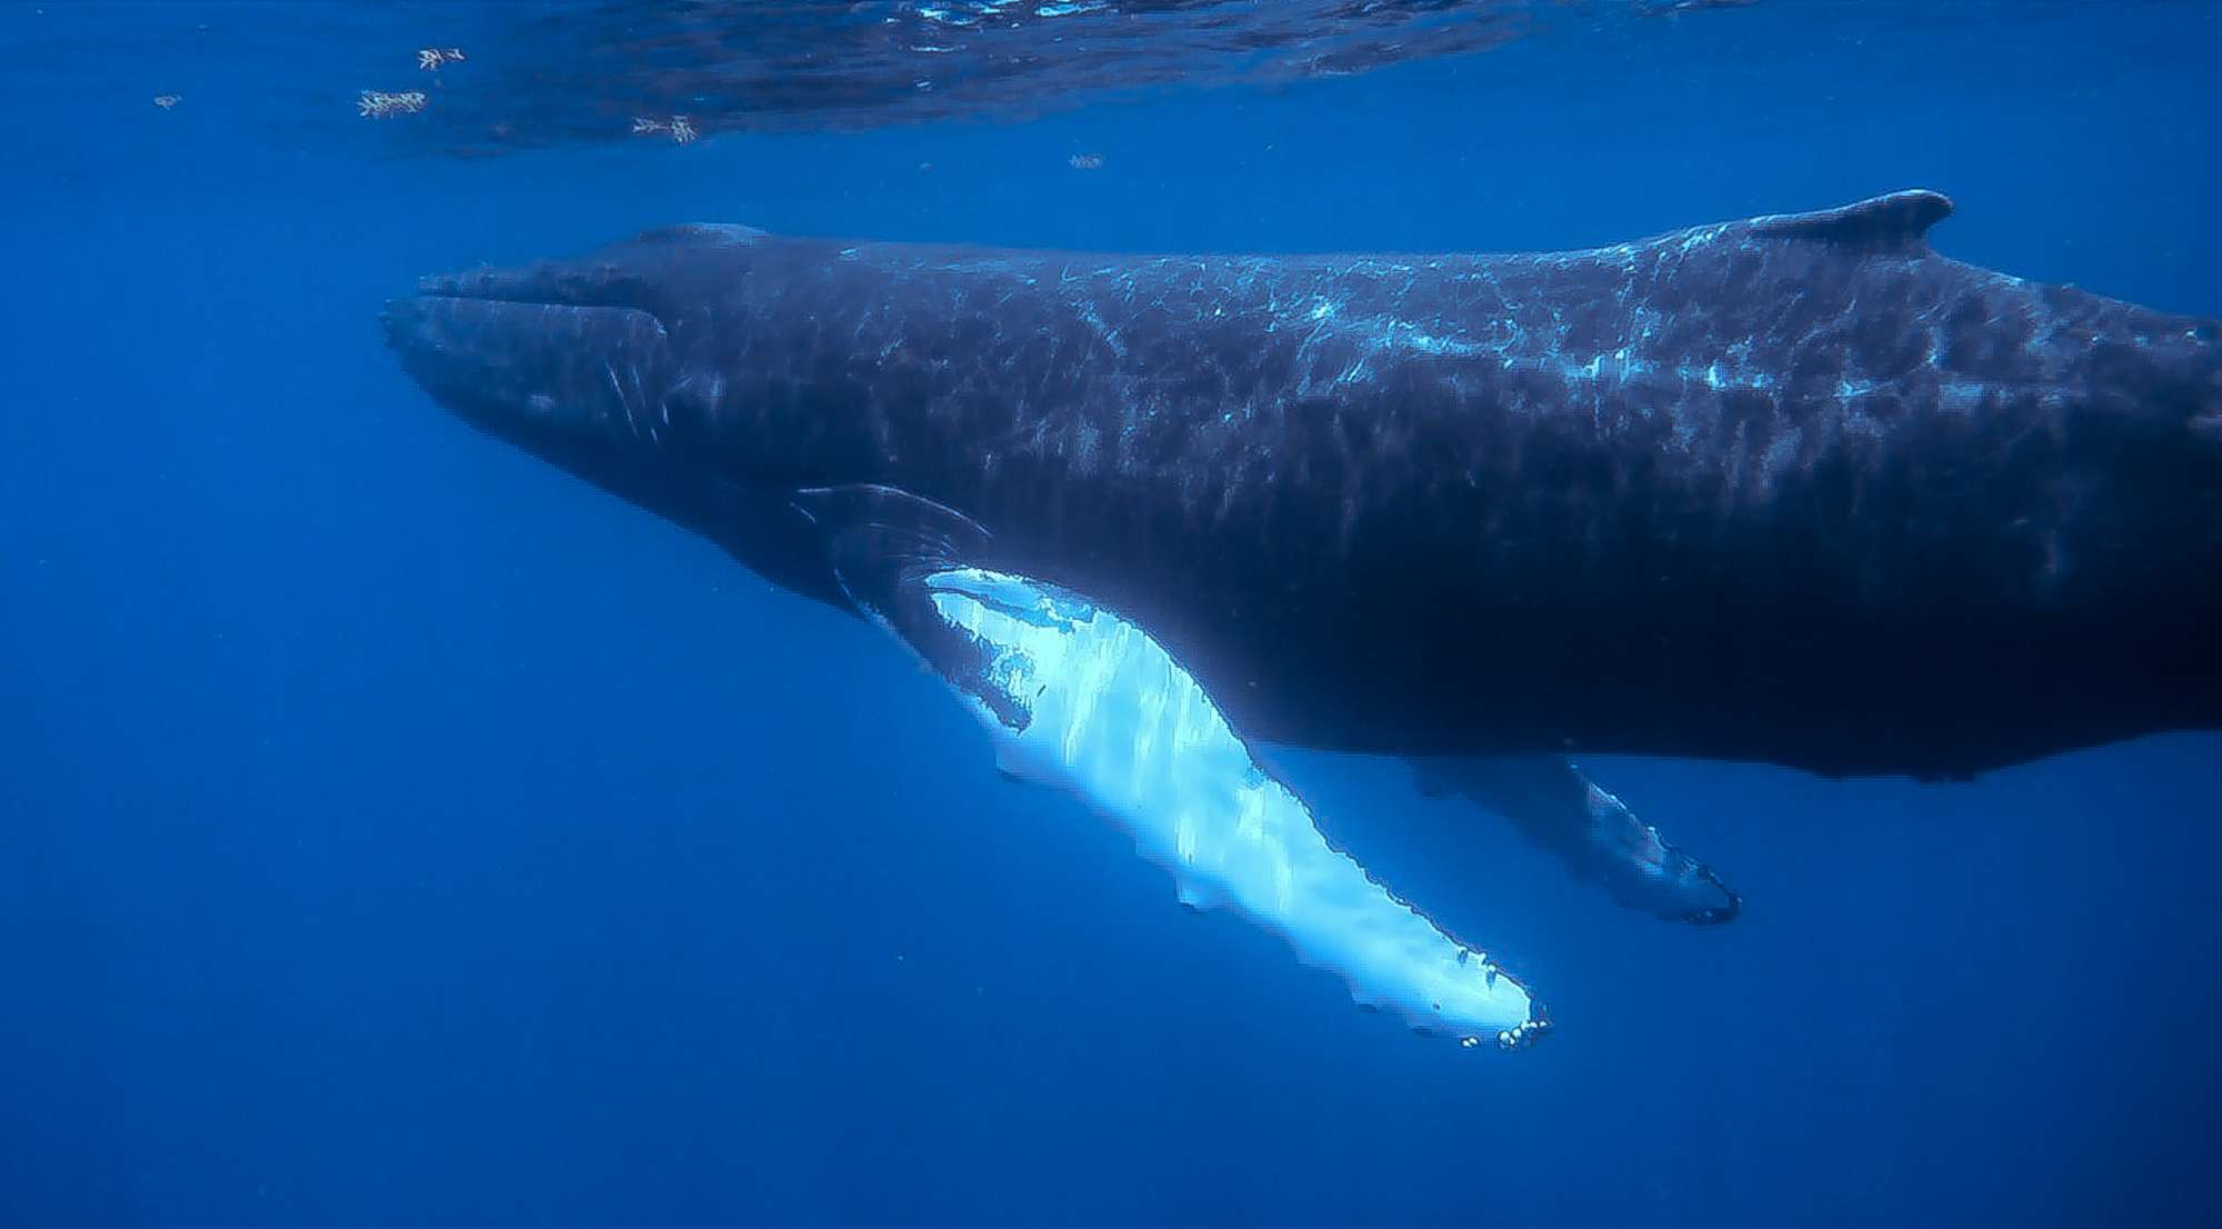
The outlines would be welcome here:
[[[1926,780],[2222,725],[2218,324],[1944,258],[1949,213],[1504,256],[682,224],[384,327],[462,420],[893,636],[1187,905],[1520,1047],[1527,987],[1258,747],[1409,758],[1709,922],[1735,893],[1575,760]]]

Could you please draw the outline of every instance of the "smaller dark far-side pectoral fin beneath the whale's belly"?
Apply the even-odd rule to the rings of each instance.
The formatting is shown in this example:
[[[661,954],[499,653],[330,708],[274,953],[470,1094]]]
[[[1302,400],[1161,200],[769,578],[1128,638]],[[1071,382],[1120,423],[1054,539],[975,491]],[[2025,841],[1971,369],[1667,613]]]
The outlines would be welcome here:
[[[1460,793],[1513,822],[1575,876],[1602,882],[1629,909],[1680,922],[1742,911],[1711,867],[1691,858],[1562,756],[1415,758],[1420,791]]]

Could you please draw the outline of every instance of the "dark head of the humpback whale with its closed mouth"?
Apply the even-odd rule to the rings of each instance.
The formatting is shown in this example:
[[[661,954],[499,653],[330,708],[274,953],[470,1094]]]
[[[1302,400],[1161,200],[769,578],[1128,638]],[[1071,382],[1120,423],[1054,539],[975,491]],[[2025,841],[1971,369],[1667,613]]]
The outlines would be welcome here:
[[[838,600],[744,398],[709,360],[747,307],[747,227],[667,227],[575,260],[422,278],[387,302],[387,344],[464,422],[667,516],[789,589]]]

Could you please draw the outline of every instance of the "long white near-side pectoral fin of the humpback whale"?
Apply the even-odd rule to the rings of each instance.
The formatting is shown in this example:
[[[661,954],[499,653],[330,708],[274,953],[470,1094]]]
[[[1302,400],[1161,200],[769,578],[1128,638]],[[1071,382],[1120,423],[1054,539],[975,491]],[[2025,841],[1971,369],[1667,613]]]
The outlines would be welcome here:
[[[1007,771],[1078,793],[1173,873],[1182,902],[1280,933],[1358,1002],[1467,1045],[1520,1047],[1549,1029],[1484,951],[1329,845],[1144,629],[1055,584],[969,567],[955,544],[871,524],[842,533],[835,571],[973,709]]]

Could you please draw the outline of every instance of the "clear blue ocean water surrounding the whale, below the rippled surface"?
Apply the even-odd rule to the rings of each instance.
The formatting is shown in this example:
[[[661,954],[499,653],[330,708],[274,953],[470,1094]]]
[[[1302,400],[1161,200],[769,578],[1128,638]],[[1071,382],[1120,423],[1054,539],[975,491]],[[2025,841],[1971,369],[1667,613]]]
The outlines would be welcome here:
[[[1744,891],[1704,931],[1291,756],[1560,1022],[1460,1051],[1178,909],[858,622],[453,422],[376,316],[673,220],[1527,249],[1902,187],[1955,258],[2215,313],[2222,7],[1593,4],[691,144],[356,118],[451,38],[427,116],[531,80],[498,16],[0,11],[0,1225],[2213,1222],[2218,736],[1595,765]]]

